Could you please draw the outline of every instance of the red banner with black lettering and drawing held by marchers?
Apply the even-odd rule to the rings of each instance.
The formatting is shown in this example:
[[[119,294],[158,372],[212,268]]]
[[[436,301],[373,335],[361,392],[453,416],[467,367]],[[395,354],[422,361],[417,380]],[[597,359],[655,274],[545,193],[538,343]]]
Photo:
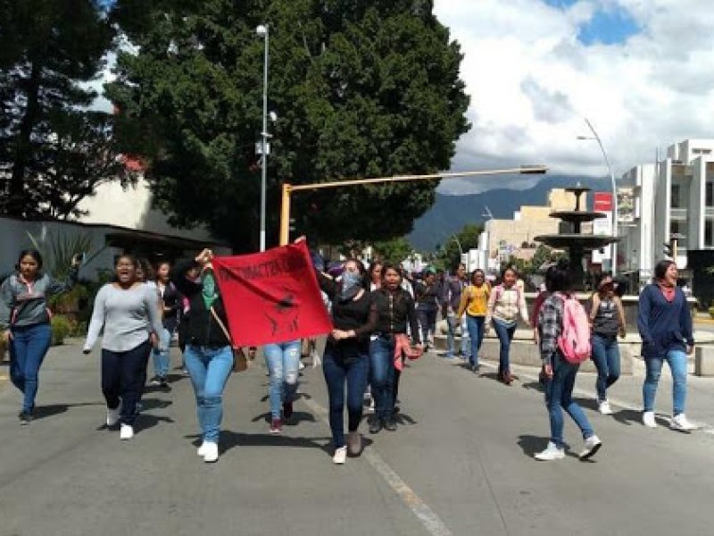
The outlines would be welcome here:
[[[261,346],[332,331],[305,242],[215,257],[234,346]]]

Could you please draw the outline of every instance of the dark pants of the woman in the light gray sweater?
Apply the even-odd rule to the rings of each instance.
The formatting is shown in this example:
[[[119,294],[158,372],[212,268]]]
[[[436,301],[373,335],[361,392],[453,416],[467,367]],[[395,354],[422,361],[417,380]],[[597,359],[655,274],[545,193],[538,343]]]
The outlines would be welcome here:
[[[150,352],[148,340],[126,352],[102,348],[102,393],[110,409],[116,409],[121,403],[122,424],[132,425],[137,417]]]

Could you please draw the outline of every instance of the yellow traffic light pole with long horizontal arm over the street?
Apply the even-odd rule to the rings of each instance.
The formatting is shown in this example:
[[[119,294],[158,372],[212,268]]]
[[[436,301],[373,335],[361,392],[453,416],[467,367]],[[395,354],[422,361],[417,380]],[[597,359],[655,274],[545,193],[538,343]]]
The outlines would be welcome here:
[[[316,190],[323,188],[340,188],[343,186],[362,186],[365,184],[385,184],[387,182],[409,182],[413,180],[441,180],[457,179],[462,177],[483,177],[486,175],[534,175],[548,171],[544,165],[521,166],[503,170],[479,170],[477,172],[433,173],[429,175],[397,175],[394,177],[379,177],[377,179],[333,180],[330,182],[315,182],[312,184],[283,183],[280,205],[280,246],[285,246],[290,241],[290,202],[292,194],[301,190]]]

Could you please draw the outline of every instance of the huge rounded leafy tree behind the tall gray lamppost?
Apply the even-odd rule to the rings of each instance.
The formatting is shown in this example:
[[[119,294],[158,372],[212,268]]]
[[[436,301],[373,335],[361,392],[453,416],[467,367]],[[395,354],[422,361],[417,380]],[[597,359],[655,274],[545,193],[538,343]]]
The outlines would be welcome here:
[[[262,129],[263,40],[270,28],[269,237],[279,185],[436,172],[468,130],[461,53],[431,0],[120,0],[135,46],[108,88],[149,164],[170,221],[207,223],[254,248]],[[316,239],[390,239],[411,230],[437,181],[295,194]]]

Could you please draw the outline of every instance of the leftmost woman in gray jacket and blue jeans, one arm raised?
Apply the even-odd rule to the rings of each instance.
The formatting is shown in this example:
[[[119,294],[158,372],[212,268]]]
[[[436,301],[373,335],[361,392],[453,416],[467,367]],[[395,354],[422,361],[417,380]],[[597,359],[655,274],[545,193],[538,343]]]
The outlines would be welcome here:
[[[67,281],[42,271],[42,255],[24,249],[15,272],[0,287],[0,331],[10,350],[10,380],[22,393],[18,415],[21,424],[32,421],[39,388],[39,369],[52,342],[47,300],[71,289],[77,282],[80,256],[74,255]]]

